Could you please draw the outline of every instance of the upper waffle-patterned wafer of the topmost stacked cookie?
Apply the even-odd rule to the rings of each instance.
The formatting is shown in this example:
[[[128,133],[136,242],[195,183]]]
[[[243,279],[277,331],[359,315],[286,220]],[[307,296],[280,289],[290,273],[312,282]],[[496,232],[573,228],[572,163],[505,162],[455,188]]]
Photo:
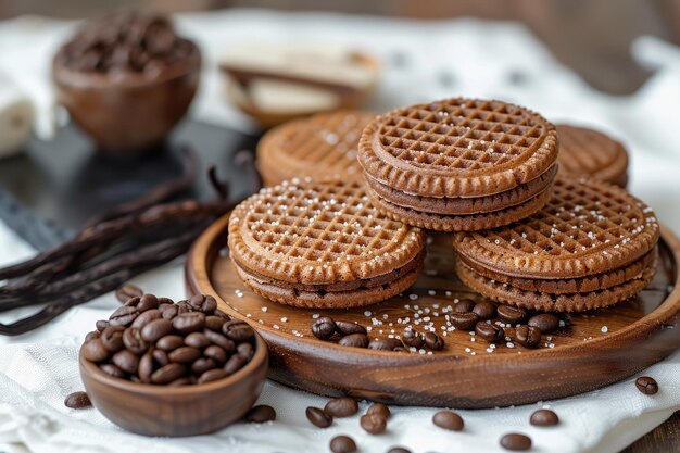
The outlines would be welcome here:
[[[366,126],[358,161],[408,194],[482,197],[537,178],[557,158],[555,127],[500,101],[449,99],[399,109]]]

